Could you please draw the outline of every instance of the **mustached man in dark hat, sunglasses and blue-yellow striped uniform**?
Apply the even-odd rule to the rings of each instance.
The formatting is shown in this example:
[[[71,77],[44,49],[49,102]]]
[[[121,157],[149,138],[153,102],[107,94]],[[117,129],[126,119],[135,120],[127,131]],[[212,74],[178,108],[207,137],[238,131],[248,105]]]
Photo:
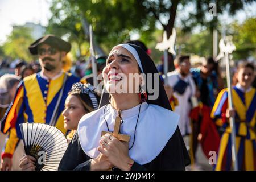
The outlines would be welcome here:
[[[2,154],[3,170],[10,170],[12,167],[11,158],[19,139],[22,138],[20,123],[47,123],[56,126],[63,133],[67,132],[61,112],[72,84],[79,82],[79,78],[63,72],[62,69],[63,57],[71,50],[70,43],[55,35],[46,35],[32,43],[28,49],[32,55],[39,56],[42,71],[20,82],[15,99],[1,121],[1,131],[9,131],[9,139]],[[19,168],[13,165],[13,169]]]

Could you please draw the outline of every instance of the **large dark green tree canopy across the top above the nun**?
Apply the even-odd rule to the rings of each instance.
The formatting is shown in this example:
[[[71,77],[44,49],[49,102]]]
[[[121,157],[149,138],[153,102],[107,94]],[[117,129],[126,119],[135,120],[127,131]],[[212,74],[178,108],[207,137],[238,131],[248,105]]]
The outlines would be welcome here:
[[[163,30],[167,31],[167,36],[171,35],[176,12],[184,11],[186,6],[193,5],[195,10],[188,13],[188,17],[181,18],[183,31],[191,32],[198,25],[204,25],[212,31],[218,27],[217,17],[207,18],[209,3],[212,2],[216,3],[218,15],[224,11],[233,15],[237,10],[241,10],[245,3],[253,0],[53,0],[53,16],[49,26],[52,27],[51,30],[56,27],[68,30],[80,44],[84,40],[88,41],[88,33],[82,30],[81,17],[84,16],[86,22],[93,26],[96,42],[108,52],[114,44],[129,40],[133,32],[139,33],[143,39],[146,37],[145,43],[149,43],[156,23],[162,25]]]

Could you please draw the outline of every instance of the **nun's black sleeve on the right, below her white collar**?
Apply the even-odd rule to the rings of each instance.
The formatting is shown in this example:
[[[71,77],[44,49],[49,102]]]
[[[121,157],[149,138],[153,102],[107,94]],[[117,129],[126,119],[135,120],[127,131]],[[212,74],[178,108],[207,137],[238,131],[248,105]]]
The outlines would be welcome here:
[[[166,146],[154,160],[144,165],[134,162],[131,171],[185,170],[185,166],[190,163],[191,160],[185,147],[185,143],[179,127],[177,127]]]

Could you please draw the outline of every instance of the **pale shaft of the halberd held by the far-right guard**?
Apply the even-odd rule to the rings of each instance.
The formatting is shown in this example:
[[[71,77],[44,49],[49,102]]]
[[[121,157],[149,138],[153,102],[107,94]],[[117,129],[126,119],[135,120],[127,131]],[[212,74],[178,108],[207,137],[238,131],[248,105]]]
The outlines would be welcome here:
[[[226,62],[226,82],[228,86],[228,104],[229,104],[229,109],[233,109],[232,86],[231,86],[230,70],[229,70],[229,53],[226,51],[225,51],[225,62]],[[234,171],[238,171],[237,154],[236,154],[236,125],[233,117],[229,118],[229,126],[231,129],[232,161],[234,164]]]

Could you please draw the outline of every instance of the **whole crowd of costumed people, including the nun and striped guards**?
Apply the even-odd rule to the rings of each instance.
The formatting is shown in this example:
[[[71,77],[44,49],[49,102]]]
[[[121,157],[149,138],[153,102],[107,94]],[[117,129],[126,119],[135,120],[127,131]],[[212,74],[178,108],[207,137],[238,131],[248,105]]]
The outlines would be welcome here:
[[[36,159],[25,155],[19,128],[24,122],[46,123],[67,136],[59,170],[185,170],[189,164],[196,169],[199,144],[207,158],[217,153],[214,170],[232,170],[230,117],[236,121],[238,169],[256,169],[253,63],[237,65],[234,108],[229,108],[228,90],[212,57],[193,67],[189,55],[176,56],[175,70],[163,83],[162,67],[156,67],[145,44],[118,44],[108,56],[96,56],[104,85],[97,90],[92,65],[80,61],[72,67],[70,43],[46,35],[28,49],[39,65],[19,61],[14,74],[0,77],[2,170],[36,168]],[[134,81],[137,77],[129,74],[142,76]],[[117,85],[129,93],[119,92]],[[118,119],[120,138],[113,134]]]

